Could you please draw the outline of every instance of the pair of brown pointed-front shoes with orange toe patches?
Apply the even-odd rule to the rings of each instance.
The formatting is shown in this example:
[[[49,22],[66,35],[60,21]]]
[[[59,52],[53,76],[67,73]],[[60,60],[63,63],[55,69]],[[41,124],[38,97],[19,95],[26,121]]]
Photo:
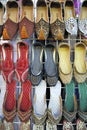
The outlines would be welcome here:
[[[21,38],[29,38],[34,31],[33,2],[22,0],[22,12],[15,0],[6,4],[6,20],[3,27],[3,39],[12,40],[19,30]]]

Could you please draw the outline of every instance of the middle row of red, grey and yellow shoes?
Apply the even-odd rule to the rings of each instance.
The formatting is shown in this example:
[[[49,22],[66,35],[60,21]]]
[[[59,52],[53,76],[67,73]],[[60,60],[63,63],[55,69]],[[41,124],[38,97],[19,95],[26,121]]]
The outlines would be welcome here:
[[[38,85],[43,77],[49,86],[58,81],[58,75],[62,83],[67,84],[73,78],[82,83],[87,78],[86,46],[78,42],[74,47],[74,63],[70,60],[70,45],[61,42],[56,49],[52,43],[44,46],[41,42],[32,45],[31,63],[29,63],[29,46],[25,42],[17,43],[17,61],[14,64],[14,48],[10,43],[1,45],[1,73],[6,82],[11,82],[16,77],[24,82],[30,74],[33,85]],[[59,57],[59,58],[58,58]]]

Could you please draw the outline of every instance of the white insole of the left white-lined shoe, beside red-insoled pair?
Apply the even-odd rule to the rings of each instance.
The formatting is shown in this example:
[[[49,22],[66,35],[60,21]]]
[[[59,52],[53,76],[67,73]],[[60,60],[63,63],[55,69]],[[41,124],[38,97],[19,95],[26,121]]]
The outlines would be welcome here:
[[[33,109],[35,115],[39,117],[44,115],[46,108],[46,81],[42,80],[38,86],[35,86],[33,101]]]

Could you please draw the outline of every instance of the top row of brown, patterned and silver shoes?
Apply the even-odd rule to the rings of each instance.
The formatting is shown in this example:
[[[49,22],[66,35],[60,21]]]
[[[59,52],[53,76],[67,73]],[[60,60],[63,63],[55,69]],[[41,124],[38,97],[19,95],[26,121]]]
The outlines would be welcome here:
[[[81,6],[80,16],[77,24],[73,0],[64,2],[64,19],[62,5],[59,1],[50,2],[50,16],[48,5],[45,0],[38,0],[36,3],[36,20],[34,31],[34,4],[32,0],[22,0],[22,11],[15,0],[8,0],[6,4],[6,20],[3,24],[4,6],[0,2],[0,36],[3,39],[11,40],[19,30],[21,38],[30,38],[33,32],[36,32],[39,40],[46,40],[51,29],[52,36],[55,40],[62,40],[64,32],[71,35],[77,35],[79,31],[86,37],[87,35],[87,1],[84,0]],[[49,21],[50,17],[50,21]],[[49,24],[50,23],[50,24]]]

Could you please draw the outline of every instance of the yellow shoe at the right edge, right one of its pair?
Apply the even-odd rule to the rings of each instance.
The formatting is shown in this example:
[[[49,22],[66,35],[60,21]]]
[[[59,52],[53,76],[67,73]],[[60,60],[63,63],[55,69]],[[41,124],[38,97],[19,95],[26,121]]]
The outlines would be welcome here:
[[[78,83],[86,80],[86,46],[83,43],[75,44],[74,77]]]

